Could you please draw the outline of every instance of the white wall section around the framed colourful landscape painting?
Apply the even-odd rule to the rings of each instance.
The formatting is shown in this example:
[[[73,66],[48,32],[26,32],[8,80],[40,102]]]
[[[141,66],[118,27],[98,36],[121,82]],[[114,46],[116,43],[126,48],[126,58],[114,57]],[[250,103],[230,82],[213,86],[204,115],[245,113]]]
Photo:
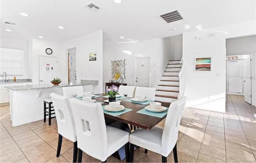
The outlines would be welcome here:
[[[225,112],[226,40],[221,32],[216,33],[216,37],[209,34],[205,31],[183,34],[186,106]],[[196,39],[198,36],[202,39]],[[195,57],[212,57],[212,72],[194,72]]]

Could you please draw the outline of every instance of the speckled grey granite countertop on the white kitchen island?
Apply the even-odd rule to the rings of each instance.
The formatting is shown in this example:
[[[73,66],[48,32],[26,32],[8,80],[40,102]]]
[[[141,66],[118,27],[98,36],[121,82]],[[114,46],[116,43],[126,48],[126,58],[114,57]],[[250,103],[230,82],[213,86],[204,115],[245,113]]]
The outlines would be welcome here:
[[[52,83],[39,84],[39,85],[17,85],[17,86],[6,86],[6,88],[13,91],[32,90],[32,89],[48,89],[48,88],[59,88],[59,87],[72,87],[79,85],[94,85],[91,82],[83,83],[60,83],[59,85],[53,85]]]

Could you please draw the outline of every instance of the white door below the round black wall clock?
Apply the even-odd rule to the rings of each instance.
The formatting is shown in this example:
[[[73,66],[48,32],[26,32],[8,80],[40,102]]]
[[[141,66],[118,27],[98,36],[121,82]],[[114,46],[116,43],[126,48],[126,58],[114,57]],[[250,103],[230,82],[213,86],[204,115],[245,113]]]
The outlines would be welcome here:
[[[39,56],[39,83],[50,83],[57,77],[57,58]]]

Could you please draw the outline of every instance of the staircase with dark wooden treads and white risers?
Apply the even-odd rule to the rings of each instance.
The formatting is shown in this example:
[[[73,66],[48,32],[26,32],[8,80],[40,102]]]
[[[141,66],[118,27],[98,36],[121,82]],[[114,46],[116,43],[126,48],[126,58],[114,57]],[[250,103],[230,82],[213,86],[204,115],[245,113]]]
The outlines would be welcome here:
[[[169,61],[156,89],[155,101],[171,103],[178,99],[180,91],[180,60]]]

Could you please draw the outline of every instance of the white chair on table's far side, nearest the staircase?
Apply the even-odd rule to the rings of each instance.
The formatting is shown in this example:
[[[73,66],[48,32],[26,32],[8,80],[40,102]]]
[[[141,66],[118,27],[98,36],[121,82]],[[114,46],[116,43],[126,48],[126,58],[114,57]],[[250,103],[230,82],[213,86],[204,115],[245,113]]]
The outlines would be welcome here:
[[[148,100],[155,100],[156,88],[150,87],[136,87],[135,97],[140,95],[145,95]]]

